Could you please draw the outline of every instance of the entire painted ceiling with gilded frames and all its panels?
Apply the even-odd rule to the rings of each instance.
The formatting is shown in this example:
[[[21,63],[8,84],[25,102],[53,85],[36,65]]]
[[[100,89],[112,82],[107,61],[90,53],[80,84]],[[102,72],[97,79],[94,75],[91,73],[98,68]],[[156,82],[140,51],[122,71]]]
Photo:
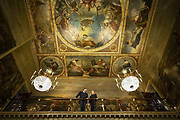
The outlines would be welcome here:
[[[43,71],[59,77],[113,77],[136,68],[153,0],[28,1]]]

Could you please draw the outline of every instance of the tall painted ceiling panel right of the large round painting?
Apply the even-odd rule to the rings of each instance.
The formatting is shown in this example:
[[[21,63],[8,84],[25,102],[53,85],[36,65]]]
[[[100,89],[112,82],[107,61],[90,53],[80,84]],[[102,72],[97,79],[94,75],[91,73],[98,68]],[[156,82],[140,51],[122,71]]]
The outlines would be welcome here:
[[[152,0],[130,0],[126,17],[123,54],[140,53]]]

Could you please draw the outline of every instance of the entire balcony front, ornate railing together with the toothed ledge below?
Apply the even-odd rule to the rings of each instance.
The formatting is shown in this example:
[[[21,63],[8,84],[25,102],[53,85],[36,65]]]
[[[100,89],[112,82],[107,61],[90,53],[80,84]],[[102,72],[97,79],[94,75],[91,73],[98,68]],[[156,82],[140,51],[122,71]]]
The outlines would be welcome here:
[[[64,120],[64,119],[114,119],[120,120],[179,120],[179,111],[160,98],[96,99],[96,111],[80,112],[79,100],[69,98],[30,97],[14,98],[3,112],[0,120]]]

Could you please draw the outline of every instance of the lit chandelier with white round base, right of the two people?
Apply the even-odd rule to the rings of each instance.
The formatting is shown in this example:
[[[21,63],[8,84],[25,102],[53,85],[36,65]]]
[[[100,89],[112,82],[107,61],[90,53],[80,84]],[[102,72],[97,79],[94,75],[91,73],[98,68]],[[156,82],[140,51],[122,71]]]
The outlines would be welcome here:
[[[139,88],[140,82],[142,82],[142,76],[137,70],[123,69],[122,74],[117,74],[115,79],[116,85],[122,91],[132,92]],[[120,81],[120,82],[119,82]]]

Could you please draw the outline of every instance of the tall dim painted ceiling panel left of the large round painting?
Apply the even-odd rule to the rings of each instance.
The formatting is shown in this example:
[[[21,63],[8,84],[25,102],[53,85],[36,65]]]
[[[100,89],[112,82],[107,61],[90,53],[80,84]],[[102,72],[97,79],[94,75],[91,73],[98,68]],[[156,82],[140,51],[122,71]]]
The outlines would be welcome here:
[[[29,1],[29,7],[33,19],[33,27],[36,33],[36,51],[39,54],[54,54],[55,41],[52,33],[51,15],[48,0]]]

